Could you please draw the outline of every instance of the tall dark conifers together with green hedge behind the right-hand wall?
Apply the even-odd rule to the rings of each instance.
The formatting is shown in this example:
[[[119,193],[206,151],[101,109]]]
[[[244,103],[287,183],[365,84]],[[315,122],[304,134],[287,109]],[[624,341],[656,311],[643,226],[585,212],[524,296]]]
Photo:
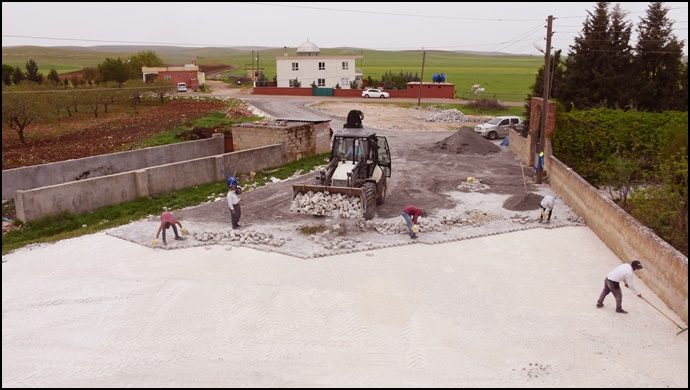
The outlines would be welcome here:
[[[598,2],[567,58],[552,58],[553,153],[688,255],[688,67],[661,2],[632,24]],[[544,66],[526,98],[544,92]],[[529,122],[527,122],[529,123]],[[535,124],[535,128],[539,125]]]

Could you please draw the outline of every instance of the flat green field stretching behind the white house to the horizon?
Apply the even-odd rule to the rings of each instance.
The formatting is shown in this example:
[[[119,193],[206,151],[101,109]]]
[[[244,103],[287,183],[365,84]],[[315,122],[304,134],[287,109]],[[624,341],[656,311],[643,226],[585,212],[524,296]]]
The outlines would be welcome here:
[[[144,46],[102,46],[95,48],[49,48],[49,47],[3,47],[3,64],[24,69],[29,59],[36,61],[39,71],[47,75],[54,68],[58,73],[68,73],[84,67],[93,67],[106,58],[127,58],[139,51],[155,51],[164,63],[182,65],[197,58],[200,65],[229,65],[237,67],[227,74],[244,75],[245,68],[264,68],[269,80],[276,75],[275,58],[283,56],[283,48],[245,50],[226,48],[181,48]],[[112,50],[112,51],[108,51]],[[295,48],[287,49],[288,55],[295,55]],[[252,55],[254,60],[252,61]],[[479,84],[485,88],[484,97],[502,101],[523,101],[535,82],[536,74],[543,65],[541,57],[518,55],[467,54],[452,51],[379,51],[360,49],[321,49],[321,55],[357,55],[357,69],[362,69],[364,78],[371,76],[380,80],[385,72],[403,72],[422,76],[431,82],[432,75],[444,73],[446,82],[455,84],[457,98],[470,98],[470,88]]]

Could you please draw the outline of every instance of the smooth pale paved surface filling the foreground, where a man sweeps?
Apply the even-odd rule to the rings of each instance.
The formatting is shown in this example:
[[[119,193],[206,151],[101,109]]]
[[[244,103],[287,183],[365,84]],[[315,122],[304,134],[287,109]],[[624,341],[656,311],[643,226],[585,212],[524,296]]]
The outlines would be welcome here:
[[[3,387],[687,388],[687,331],[629,290],[595,307],[620,262],[586,226],[315,259],[31,246],[3,258]]]

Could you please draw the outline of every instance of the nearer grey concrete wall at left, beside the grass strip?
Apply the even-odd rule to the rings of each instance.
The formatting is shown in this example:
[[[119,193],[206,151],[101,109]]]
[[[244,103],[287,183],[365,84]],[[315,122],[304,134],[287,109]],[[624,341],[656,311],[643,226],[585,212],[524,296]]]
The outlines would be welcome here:
[[[222,138],[221,138],[222,140]],[[222,181],[223,171],[249,172],[286,164],[283,144],[148,167],[114,175],[15,192],[17,218],[35,221],[62,211],[91,212],[198,184]]]

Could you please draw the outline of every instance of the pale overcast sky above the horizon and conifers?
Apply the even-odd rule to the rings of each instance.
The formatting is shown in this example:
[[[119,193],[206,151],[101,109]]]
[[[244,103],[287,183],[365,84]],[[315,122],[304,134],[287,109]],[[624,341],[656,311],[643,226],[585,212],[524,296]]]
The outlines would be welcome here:
[[[616,3],[611,3],[611,8]],[[618,3],[636,26],[648,2]],[[2,3],[2,46],[263,46],[568,52],[596,3]],[[664,3],[687,55],[688,3]]]

